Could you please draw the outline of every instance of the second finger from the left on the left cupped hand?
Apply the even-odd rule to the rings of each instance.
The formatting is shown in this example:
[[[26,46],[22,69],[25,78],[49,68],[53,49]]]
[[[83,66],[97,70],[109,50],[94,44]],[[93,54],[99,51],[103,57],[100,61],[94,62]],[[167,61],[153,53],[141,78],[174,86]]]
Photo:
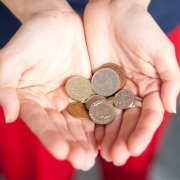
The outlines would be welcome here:
[[[70,149],[67,159],[72,163],[74,168],[82,169],[86,158],[85,151],[81,146],[78,145],[78,143],[76,143],[76,139],[69,132],[64,116],[52,109],[48,109],[47,112],[58,131],[69,144]]]

